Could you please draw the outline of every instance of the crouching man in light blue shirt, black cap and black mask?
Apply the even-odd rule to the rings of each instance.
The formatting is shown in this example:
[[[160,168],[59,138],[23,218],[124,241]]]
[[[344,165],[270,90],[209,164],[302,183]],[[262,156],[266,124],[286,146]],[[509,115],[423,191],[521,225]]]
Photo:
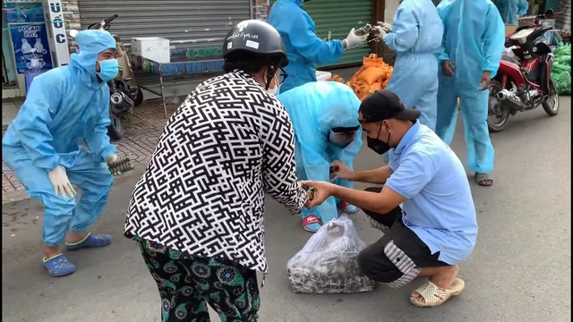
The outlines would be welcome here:
[[[329,182],[303,184],[314,187],[307,207],[329,196],[344,199],[385,232],[358,256],[364,275],[395,288],[428,277],[410,301],[437,307],[464,289],[458,263],[474,250],[477,222],[464,166],[419,117],[419,110],[405,108],[388,89],[373,93],[363,100],[358,119],[369,148],[379,154],[391,150],[389,165],[353,172],[335,162],[334,171],[342,179],[384,187],[357,191]]]

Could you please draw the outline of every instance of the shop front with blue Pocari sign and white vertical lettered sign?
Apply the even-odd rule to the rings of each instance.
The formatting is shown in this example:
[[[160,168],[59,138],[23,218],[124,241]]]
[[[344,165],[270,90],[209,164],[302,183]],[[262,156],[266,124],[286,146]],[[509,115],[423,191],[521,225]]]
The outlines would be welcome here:
[[[21,97],[42,72],[68,64],[60,1],[4,0],[2,97]]]

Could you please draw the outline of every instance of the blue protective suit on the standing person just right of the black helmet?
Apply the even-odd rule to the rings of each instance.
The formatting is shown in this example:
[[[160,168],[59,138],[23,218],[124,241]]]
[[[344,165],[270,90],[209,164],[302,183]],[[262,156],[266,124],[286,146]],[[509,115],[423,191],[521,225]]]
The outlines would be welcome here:
[[[270,25],[283,38],[288,56],[288,74],[280,87],[282,93],[316,81],[314,64],[332,64],[342,55],[341,40],[323,41],[316,36],[314,21],[304,12],[303,0],[278,0],[269,13]]]

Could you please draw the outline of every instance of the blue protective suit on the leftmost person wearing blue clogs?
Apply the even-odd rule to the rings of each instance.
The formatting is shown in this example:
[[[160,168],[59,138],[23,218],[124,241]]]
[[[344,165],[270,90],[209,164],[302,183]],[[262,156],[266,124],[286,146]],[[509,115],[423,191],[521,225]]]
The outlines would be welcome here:
[[[115,154],[109,142],[109,89],[96,77],[98,54],[115,49],[107,31],[84,30],[76,36],[78,54],[70,65],[34,79],[26,101],[2,140],[4,163],[11,167],[32,198],[45,208],[43,235],[56,246],[68,230],[84,232],[107,203],[113,176],[106,160]],[[90,151],[81,148],[84,140]],[[64,199],[54,192],[48,172],[62,165],[82,195]]]

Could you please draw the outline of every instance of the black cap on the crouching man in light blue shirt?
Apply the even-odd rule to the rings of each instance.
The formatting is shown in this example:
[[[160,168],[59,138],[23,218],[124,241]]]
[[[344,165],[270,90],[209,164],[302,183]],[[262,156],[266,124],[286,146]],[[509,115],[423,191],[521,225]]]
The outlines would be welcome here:
[[[377,90],[364,98],[358,112],[362,114],[360,123],[381,122],[391,118],[415,121],[420,117],[420,111],[404,107],[400,97],[388,89]]]

